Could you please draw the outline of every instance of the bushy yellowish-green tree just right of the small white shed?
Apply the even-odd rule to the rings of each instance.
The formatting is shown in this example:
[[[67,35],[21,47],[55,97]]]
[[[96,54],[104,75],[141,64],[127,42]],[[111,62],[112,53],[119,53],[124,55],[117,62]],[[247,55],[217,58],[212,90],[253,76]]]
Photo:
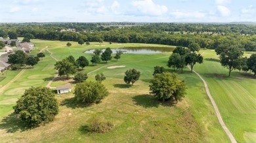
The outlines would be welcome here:
[[[108,90],[100,82],[82,82],[75,86],[75,101],[77,103],[98,103],[108,96]]]

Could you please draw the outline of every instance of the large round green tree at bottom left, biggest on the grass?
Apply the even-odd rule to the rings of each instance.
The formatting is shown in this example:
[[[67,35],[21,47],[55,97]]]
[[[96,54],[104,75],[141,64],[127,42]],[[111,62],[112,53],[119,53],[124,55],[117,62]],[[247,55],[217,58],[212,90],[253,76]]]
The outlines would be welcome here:
[[[30,87],[13,106],[14,114],[22,121],[35,127],[40,123],[53,121],[58,114],[58,102],[51,89],[47,87]]]

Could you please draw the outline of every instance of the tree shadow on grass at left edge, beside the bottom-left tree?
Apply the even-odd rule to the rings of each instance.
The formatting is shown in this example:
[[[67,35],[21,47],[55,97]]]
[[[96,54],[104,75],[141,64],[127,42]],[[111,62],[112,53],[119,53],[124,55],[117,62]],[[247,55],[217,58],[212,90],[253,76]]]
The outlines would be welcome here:
[[[15,114],[10,114],[9,116],[2,119],[0,123],[0,129],[5,130],[7,133],[15,133],[16,131],[22,132],[32,128],[28,127],[25,121],[18,119]]]

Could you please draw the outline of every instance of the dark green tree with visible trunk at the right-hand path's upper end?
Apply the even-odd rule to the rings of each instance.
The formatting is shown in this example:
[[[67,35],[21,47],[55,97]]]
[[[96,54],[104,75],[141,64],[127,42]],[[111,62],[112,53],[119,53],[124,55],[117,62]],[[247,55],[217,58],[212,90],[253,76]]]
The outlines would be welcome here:
[[[190,65],[190,69],[192,72],[193,67],[194,65],[196,65],[196,63],[203,63],[203,56],[201,56],[201,54],[196,54],[193,52],[186,55],[185,62],[186,62],[186,65]]]

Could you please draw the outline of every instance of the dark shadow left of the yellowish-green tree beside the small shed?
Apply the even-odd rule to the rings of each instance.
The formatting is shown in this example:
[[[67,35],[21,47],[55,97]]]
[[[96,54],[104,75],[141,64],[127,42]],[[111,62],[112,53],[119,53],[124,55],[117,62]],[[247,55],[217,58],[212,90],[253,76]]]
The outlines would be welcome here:
[[[72,109],[75,109],[75,108],[84,108],[84,107],[87,107],[87,106],[91,106],[90,103],[84,103],[84,104],[78,104],[74,97],[70,98],[70,99],[64,99],[64,101],[62,101],[60,103],[60,106],[66,106],[68,108],[72,108]]]

